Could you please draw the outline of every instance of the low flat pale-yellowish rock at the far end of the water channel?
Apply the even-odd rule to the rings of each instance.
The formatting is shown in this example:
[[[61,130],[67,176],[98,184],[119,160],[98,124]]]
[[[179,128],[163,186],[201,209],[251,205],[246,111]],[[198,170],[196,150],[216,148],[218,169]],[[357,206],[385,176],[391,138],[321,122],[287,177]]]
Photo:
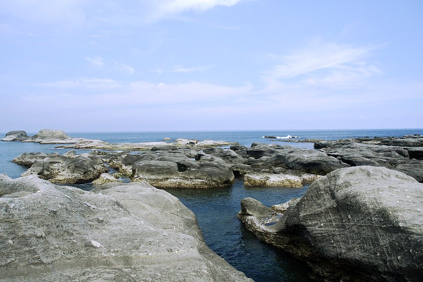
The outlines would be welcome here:
[[[274,174],[274,173],[249,173],[244,176],[245,186],[255,187],[294,187],[301,188],[306,183],[312,183],[320,175],[309,173]]]

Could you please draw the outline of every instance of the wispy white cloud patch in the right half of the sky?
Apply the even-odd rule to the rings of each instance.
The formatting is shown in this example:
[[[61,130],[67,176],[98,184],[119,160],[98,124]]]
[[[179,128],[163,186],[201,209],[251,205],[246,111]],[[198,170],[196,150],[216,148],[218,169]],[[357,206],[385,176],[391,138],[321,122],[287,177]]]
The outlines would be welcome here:
[[[338,87],[380,73],[375,63],[366,59],[381,46],[352,46],[314,43],[291,55],[275,57],[281,61],[266,73],[265,80],[296,80],[305,86]]]

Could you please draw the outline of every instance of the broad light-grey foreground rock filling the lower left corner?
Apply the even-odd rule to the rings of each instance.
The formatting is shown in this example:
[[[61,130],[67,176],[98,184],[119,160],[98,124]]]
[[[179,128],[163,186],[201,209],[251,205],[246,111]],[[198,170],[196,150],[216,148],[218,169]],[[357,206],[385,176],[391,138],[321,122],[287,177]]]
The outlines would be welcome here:
[[[0,281],[252,281],[176,197],[139,184],[93,193],[0,175]]]

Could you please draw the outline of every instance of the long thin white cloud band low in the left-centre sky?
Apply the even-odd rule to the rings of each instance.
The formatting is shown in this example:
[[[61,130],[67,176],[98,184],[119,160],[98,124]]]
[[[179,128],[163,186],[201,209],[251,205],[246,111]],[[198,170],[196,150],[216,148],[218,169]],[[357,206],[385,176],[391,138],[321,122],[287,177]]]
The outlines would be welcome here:
[[[38,84],[45,90],[44,95],[30,95],[26,101],[31,103],[62,104],[77,106],[81,97],[85,104],[98,107],[113,104],[116,99],[127,101],[131,106],[174,105],[181,103],[201,103],[211,101],[233,101],[251,95],[251,85],[238,87],[222,86],[211,83],[189,82],[180,84],[149,83],[133,81],[127,84],[110,79],[78,78]],[[51,93],[51,94],[48,94]],[[61,93],[58,96],[57,93]],[[89,94],[89,95],[87,95]],[[28,100],[29,99],[29,100]]]

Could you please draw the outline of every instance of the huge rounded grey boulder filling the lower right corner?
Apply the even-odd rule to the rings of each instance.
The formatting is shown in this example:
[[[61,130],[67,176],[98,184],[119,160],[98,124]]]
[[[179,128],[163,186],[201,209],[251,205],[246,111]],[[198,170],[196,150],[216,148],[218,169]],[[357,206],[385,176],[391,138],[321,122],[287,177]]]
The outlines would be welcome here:
[[[241,207],[238,217],[323,279],[420,281],[422,210],[423,184],[416,179],[385,167],[356,166],[317,179],[274,225],[263,224],[263,208],[246,213]]]

